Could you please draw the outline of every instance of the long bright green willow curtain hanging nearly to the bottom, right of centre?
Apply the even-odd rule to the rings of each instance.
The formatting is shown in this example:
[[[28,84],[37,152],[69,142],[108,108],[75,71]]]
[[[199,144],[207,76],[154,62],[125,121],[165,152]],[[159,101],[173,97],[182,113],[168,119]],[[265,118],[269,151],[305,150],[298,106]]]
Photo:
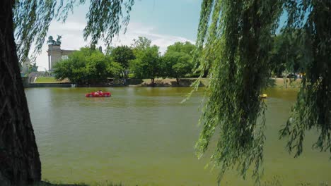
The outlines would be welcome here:
[[[196,148],[201,157],[218,131],[211,162],[221,169],[219,180],[233,167],[245,178],[250,166],[256,180],[260,178],[265,104],[259,96],[280,13],[279,1],[202,1],[197,38],[200,56],[194,60],[200,64],[200,77],[210,68],[210,84]]]

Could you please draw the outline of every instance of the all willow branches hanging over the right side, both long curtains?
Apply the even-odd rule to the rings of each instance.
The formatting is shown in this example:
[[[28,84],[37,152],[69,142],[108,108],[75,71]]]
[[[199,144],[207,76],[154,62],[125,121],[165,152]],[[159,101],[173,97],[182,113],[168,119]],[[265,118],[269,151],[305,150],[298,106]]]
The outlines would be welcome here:
[[[306,75],[281,137],[289,136],[287,147],[296,149],[298,156],[306,130],[317,128],[320,135],[313,147],[331,153],[331,1],[204,0],[195,59],[200,72],[210,68],[210,84],[196,148],[202,156],[211,138],[218,137],[211,163],[220,167],[219,180],[230,168],[238,168],[245,178],[250,167],[259,180],[266,108],[259,95],[269,70],[272,36],[284,10],[285,33],[300,31],[294,37],[305,51],[300,68]]]

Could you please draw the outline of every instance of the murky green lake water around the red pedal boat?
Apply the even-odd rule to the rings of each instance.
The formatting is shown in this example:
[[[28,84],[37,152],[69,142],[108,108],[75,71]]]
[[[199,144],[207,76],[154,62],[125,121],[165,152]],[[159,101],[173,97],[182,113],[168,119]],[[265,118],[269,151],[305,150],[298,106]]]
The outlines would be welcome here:
[[[204,168],[209,157],[197,159],[194,144],[202,91],[180,104],[190,88],[116,87],[110,98],[86,98],[95,88],[28,88],[30,116],[42,161],[42,179],[88,184],[217,185],[217,169]],[[310,147],[308,132],[303,155],[294,159],[278,131],[289,117],[297,89],[266,92],[267,185],[331,184],[330,154]],[[221,185],[252,185],[236,171]]]

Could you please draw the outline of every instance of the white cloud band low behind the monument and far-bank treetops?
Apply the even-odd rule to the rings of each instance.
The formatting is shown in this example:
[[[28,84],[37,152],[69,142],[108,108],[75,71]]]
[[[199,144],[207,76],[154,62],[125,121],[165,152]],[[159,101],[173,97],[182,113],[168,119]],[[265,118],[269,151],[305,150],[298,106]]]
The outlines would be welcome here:
[[[62,49],[78,50],[79,48],[88,44],[88,42],[85,42],[83,39],[83,28],[85,27],[85,25],[86,23],[58,23],[53,21],[50,25],[48,35],[52,35],[54,39],[57,38],[57,35],[62,35]],[[112,45],[130,46],[132,44],[132,40],[137,39],[137,37],[139,36],[147,37],[148,39],[151,39],[152,44],[160,46],[160,51],[162,54],[165,52],[169,45],[175,42],[189,41],[194,43],[194,41],[186,39],[184,37],[157,34],[153,27],[143,25],[141,23],[129,23],[127,27],[127,32],[125,34],[121,32],[118,37],[115,37],[113,39]],[[101,43],[101,45],[103,44]],[[45,42],[44,46],[42,46],[42,52],[40,56],[37,56],[37,66],[40,66],[38,70],[45,70],[45,68],[47,68],[48,70],[47,47],[48,46]]]

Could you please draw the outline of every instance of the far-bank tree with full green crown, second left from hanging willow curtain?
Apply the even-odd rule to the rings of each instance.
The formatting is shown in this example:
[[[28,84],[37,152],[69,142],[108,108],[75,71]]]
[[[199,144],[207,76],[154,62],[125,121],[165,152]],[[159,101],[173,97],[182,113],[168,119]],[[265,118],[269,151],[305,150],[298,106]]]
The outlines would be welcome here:
[[[161,61],[158,46],[149,46],[136,51],[136,59],[131,62],[131,69],[138,78],[150,78],[154,84],[155,77],[161,75]]]

